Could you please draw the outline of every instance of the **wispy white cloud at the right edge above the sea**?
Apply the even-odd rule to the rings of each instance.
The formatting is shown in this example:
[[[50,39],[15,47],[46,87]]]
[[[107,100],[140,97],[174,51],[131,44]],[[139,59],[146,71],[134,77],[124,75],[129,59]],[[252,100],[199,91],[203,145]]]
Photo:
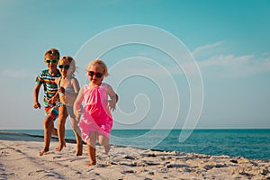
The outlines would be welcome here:
[[[193,50],[193,56],[204,77],[244,77],[270,71],[269,53],[261,56],[233,55],[216,49],[227,49],[225,41],[205,45]],[[188,65],[187,65],[188,66]]]

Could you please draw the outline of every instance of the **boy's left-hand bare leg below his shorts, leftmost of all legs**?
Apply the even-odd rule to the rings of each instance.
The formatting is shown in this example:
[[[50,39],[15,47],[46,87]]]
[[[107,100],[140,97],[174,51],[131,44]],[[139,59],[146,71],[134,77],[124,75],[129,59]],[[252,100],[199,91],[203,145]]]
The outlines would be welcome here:
[[[51,138],[51,132],[53,130],[53,118],[49,115],[43,121],[44,128],[44,148],[40,151],[40,156],[49,151],[49,143]]]

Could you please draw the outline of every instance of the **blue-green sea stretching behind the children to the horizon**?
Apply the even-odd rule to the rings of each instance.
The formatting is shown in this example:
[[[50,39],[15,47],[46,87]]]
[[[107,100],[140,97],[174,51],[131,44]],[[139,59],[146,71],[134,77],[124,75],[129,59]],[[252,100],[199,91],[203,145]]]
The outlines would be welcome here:
[[[29,140],[43,140],[43,130],[1,131],[30,135]],[[188,130],[185,133],[188,136],[179,139],[181,133],[184,130],[112,130],[110,143],[132,148],[270,159],[270,129]],[[0,139],[20,138],[14,133],[0,133]],[[73,130],[66,130],[65,138],[75,142]]]

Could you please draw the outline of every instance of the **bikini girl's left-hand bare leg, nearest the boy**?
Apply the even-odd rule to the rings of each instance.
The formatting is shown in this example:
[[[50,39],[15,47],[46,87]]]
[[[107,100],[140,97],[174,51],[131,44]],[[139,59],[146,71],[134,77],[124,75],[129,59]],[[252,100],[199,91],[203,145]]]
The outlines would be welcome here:
[[[57,151],[61,151],[62,148],[66,147],[65,141],[65,124],[67,120],[67,109],[65,106],[58,108],[58,147],[55,148]]]

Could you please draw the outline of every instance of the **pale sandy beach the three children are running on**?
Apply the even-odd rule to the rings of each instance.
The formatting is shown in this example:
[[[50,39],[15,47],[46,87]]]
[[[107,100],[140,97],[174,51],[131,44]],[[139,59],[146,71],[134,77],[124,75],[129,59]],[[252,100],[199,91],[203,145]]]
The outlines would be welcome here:
[[[3,132],[0,136],[3,136]],[[87,151],[76,157],[76,144],[61,152],[39,156],[43,142],[0,140],[0,179],[270,179],[270,161],[245,157],[209,156],[112,146],[109,155],[97,146],[97,165],[88,163]],[[25,137],[23,140],[23,137]],[[32,138],[35,139],[35,138]],[[263,152],[262,152],[263,153]]]

